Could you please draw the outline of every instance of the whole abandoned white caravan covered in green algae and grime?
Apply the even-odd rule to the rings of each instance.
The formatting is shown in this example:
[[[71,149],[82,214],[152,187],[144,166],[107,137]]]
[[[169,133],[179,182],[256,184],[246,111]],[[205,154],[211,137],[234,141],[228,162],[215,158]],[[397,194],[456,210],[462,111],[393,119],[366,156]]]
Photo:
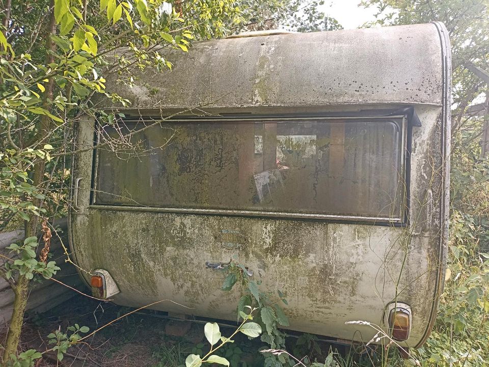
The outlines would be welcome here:
[[[100,102],[124,112],[115,127],[78,126],[71,246],[81,268],[101,269],[92,285],[121,305],[170,299],[190,308],[152,308],[236,320],[238,287],[222,291],[215,269],[233,259],[287,295],[290,329],[368,341],[375,330],[345,322],[387,327],[397,309],[402,344],[420,346],[446,266],[443,24],[165,54],[172,72],[107,81],[131,101]]]

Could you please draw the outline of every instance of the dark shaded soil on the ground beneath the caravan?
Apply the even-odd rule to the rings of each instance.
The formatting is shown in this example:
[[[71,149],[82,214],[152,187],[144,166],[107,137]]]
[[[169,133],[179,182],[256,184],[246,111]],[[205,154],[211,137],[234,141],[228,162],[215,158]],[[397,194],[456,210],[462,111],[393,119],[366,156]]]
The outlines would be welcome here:
[[[99,302],[81,295],[50,309],[43,314],[27,314],[22,329],[19,352],[28,349],[45,351],[52,347],[47,335],[55,330],[66,331],[74,325],[88,326],[93,331],[133,310],[110,302]],[[204,340],[205,320],[181,321],[169,319],[165,313],[142,310],[114,322],[86,340],[68,350],[62,361],[55,354],[47,354],[38,360],[36,367],[180,367],[190,353],[207,352]],[[234,331],[232,323],[221,326],[221,331],[229,335]],[[231,324],[231,325],[229,325]],[[0,329],[0,344],[5,340],[5,328]],[[296,348],[297,335],[290,337],[290,350]],[[258,338],[257,338],[258,339]],[[289,338],[288,338],[289,339]],[[232,358],[239,346],[239,356],[234,356],[231,367],[263,366],[260,348],[268,347],[259,340],[249,341],[238,335],[232,350],[224,350]],[[314,341],[304,345],[304,355],[313,355],[321,360],[330,351],[330,345]],[[269,347],[268,347],[269,348]],[[201,351],[198,351],[201,349]],[[311,349],[311,350],[309,350]],[[318,352],[319,351],[319,352]],[[224,356],[224,354],[222,354]]]

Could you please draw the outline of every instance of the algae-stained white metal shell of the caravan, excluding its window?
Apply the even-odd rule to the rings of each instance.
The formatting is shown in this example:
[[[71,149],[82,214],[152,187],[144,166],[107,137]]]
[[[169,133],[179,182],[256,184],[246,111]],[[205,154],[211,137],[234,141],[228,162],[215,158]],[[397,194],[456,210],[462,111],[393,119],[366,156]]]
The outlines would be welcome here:
[[[147,69],[133,88],[107,81],[108,89],[132,102],[118,109],[127,117],[186,110],[183,115],[192,118],[202,109],[207,116],[358,117],[413,107],[421,126],[410,128],[406,143],[407,217],[393,225],[156,204],[97,205],[92,192],[97,159],[86,151],[73,167],[74,177],[84,178],[78,181],[79,209],[70,213],[78,265],[107,270],[120,290],[114,296],[118,304],[171,299],[190,308],[170,302],[155,308],[235,320],[242,290],[221,291],[223,274],[205,266],[234,257],[262,281],[263,290],[287,294],[291,329],[366,342],[374,330],[345,322],[384,324],[386,306],[397,301],[412,309],[413,328],[403,345],[420,346],[436,317],[446,266],[450,51],[445,27],[216,40],[196,43],[188,55],[172,51],[166,57],[175,64],[171,73]],[[117,108],[108,100],[101,103]],[[77,147],[94,145],[94,129],[93,120],[80,122]],[[223,231],[235,233],[239,246],[223,245]]]

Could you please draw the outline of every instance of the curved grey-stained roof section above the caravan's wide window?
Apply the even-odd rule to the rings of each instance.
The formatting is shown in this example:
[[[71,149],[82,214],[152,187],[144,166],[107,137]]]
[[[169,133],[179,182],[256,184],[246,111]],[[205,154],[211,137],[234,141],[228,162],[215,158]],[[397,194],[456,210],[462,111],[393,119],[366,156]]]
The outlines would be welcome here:
[[[107,85],[131,109],[442,105],[445,37],[430,23],[196,42],[165,51],[171,72],[146,68],[133,88]]]

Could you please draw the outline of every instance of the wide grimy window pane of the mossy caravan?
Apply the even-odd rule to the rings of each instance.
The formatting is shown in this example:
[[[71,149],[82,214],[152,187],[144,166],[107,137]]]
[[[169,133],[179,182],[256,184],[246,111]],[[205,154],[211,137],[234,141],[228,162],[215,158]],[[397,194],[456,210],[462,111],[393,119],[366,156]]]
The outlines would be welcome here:
[[[164,126],[98,149],[96,204],[400,218],[402,119]]]

